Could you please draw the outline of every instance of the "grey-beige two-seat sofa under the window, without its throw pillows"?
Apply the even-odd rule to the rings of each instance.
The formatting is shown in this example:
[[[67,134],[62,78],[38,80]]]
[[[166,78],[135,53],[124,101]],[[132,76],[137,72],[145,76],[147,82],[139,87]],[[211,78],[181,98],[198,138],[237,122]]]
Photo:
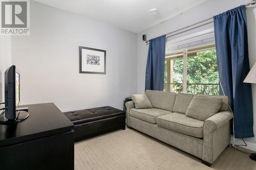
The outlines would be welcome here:
[[[205,121],[185,116],[194,94],[146,90],[153,108],[135,109],[126,102],[126,124],[140,132],[173,145],[202,159],[210,166],[230,143],[230,120],[227,96],[218,113]]]

